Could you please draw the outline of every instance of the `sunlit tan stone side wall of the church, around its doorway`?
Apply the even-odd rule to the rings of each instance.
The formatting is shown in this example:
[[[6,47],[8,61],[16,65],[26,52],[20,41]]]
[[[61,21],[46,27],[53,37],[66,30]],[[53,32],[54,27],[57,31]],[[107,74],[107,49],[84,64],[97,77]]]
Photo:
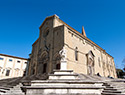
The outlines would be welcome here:
[[[94,54],[94,73],[101,76],[116,78],[114,59],[109,54],[80,37],[75,31],[65,27],[65,48],[67,49],[68,69],[77,73],[87,74],[87,56],[89,51]],[[70,40],[69,40],[70,39]],[[75,60],[75,48],[78,48],[78,60]],[[72,55],[72,56],[70,56]]]

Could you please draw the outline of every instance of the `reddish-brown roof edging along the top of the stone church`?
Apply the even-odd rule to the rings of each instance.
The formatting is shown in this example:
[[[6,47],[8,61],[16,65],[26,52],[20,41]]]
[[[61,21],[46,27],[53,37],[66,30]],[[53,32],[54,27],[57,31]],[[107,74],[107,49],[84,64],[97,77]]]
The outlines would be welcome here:
[[[88,38],[86,37],[86,34],[82,35],[80,32],[76,31],[74,28],[72,28],[71,26],[69,26],[68,24],[66,24],[65,22],[63,22],[61,19],[59,19],[59,17],[58,17],[57,15],[52,15],[52,16],[46,17],[45,20],[43,21],[43,23],[40,25],[39,29],[44,25],[44,23],[45,23],[46,20],[52,19],[52,18],[54,18],[54,17],[56,17],[61,23],[63,23],[64,25],[66,25],[68,28],[70,28],[71,30],[73,30],[73,31],[74,31],[76,34],[78,34],[80,37],[86,39],[87,41],[91,42],[93,45],[95,45],[96,47],[98,47],[99,49],[101,49],[103,52],[107,53],[107,52],[106,52],[103,48],[101,48],[99,45],[97,45],[96,43],[94,43],[93,41],[91,41],[90,39],[88,39]],[[84,32],[85,32],[85,31],[84,31]],[[38,38],[38,39],[39,39],[39,38]],[[37,39],[37,41],[38,41],[38,39]],[[36,42],[37,42],[37,41],[36,41]],[[36,42],[35,42],[35,43],[36,43]],[[33,43],[33,44],[35,44],[35,43]],[[107,54],[108,54],[108,53],[107,53]],[[109,54],[108,54],[108,55],[109,55]],[[109,55],[109,56],[111,56],[111,55]],[[112,56],[111,56],[111,57],[112,57]],[[113,57],[112,57],[112,58],[113,58]]]

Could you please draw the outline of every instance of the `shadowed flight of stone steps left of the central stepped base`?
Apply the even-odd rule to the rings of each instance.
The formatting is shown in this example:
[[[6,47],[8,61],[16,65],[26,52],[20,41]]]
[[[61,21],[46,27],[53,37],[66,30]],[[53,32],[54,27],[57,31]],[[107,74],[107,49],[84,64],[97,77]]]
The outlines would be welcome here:
[[[21,80],[22,77],[0,80],[0,95],[24,95]]]

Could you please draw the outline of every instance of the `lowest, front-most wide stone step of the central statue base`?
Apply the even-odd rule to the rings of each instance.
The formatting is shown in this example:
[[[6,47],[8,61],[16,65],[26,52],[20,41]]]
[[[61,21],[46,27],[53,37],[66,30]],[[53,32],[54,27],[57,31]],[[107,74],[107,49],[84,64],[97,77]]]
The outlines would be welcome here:
[[[24,87],[26,95],[99,95],[103,87]]]

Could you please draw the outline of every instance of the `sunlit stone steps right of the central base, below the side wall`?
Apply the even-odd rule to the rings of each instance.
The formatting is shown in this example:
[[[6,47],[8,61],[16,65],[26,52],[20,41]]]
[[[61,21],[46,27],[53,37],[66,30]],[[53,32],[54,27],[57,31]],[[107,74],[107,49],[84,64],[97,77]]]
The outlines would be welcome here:
[[[88,76],[84,74],[80,74],[79,76],[81,79],[86,77],[86,79],[102,81],[103,86],[105,87],[101,93],[102,95],[125,95],[125,80],[123,79],[110,79],[96,75]]]

